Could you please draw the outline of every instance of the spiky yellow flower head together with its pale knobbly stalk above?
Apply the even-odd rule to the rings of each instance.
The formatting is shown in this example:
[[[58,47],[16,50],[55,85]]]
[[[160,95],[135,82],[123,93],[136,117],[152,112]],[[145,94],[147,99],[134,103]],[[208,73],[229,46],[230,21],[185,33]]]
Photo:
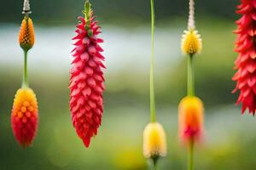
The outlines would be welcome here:
[[[181,48],[183,54],[200,54],[202,48],[201,35],[195,30],[195,3],[194,0],[189,0],[189,22],[188,30],[184,31],[182,36]]]

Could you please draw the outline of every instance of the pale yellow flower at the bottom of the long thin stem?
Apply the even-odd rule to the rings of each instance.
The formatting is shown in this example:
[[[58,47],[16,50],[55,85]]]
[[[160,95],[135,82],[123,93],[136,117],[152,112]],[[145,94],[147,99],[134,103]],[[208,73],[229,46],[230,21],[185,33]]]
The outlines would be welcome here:
[[[143,155],[146,158],[166,156],[166,133],[158,122],[150,122],[143,132]]]

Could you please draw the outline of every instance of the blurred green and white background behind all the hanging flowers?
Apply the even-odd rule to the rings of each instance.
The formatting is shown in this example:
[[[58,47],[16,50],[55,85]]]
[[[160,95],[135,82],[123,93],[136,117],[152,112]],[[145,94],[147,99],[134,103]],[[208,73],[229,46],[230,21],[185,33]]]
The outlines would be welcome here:
[[[83,0],[32,0],[36,44],[29,53],[29,80],[39,102],[38,136],[31,148],[16,144],[10,126],[20,88],[23,54],[17,42],[22,1],[1,1],[0,11],[0,169],[145,170],[143,128],[149,122],[149,0],[91,0],[102,26],[107,91],[102,127],[90,149],[77,137],[68,108],[72,37]],[[186,57],[180,37],[186,29],[188,1],[156,1],[155,93],[157,119],[166,129],[168,156],[160,169],[186,169],[186,150],[177,140],[177,105],[186,94]],[[238,0],[196,1],[196,26],[203,51],[196,57],[196,94],[206,107],[205,142],[195,152],[201,170],[256,167],[256,120],[241,116],[231,94],[232,33]]]

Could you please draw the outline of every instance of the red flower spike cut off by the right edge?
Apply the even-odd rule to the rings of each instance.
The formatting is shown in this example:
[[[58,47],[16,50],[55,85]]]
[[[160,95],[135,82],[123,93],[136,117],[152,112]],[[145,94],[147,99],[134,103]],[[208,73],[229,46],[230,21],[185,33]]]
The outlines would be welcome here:
[[[242,14],[241,19],[236,21],[238,25],[235,33],[236,52],[239,54],[236,59],[236,91],[240,91],[237,105],[242,104],[242,114],[247,109],[251,114],[256,110],[256,1],[241,0],[237,14]]]

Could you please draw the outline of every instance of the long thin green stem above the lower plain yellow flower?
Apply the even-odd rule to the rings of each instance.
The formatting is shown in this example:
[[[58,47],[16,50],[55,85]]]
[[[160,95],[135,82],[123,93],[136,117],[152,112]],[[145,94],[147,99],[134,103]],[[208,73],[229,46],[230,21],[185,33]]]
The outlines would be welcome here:
[[[154,0],[151,2],[151,59],[150,59],[150,115],[151,122],[155,122],[154,102]]]

